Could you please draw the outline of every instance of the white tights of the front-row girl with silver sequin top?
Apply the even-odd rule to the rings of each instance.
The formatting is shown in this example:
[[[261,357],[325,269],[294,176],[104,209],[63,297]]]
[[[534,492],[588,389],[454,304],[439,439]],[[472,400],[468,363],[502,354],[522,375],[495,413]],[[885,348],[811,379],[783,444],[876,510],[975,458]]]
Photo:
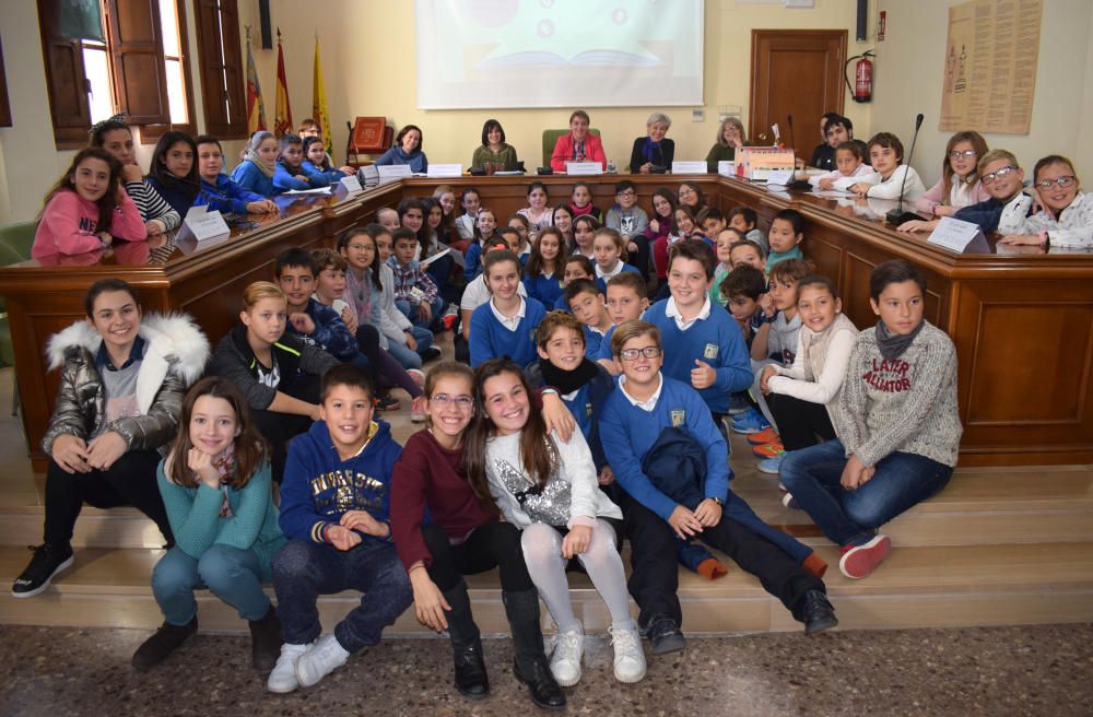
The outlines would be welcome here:
[[[573,602],[569,600],[569,583],[565,576],[566,560],[562,557],[562,533],[551,526],[536,522],[524,529],[520,543],[531,580],[539,588],[539,595],[554,618],[559,632],[580,631],[580,621],[573,614]],[[622,559],[615,550],[614,528],[607,520],[597,518],[588,550],[577,555],[577,559],[607,604],[612,627],[633,628],[626,576]]]

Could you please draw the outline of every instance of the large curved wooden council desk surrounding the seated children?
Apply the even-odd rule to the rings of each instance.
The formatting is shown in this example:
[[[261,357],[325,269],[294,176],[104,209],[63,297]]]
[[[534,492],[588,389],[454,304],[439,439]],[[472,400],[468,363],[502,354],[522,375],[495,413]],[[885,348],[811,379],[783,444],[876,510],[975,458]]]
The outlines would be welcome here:
[[[608,208],[621,177],[581,177],[593,202]],[[633,175],[639,205],[649,211],[653,191],[674,188],[682,177]],[[52,408],[58,376],[47,374],[43,349],[50,334],[83,317],[83,293],[94,281],[118,277],[137,286],[146,310],[184,310],[197,317],[215,343],[235,321],[243,289],[271,279],[277,255],[289,247],[331,246],[338,232],[372,221],[404,197],[427,197],[439,184],[456,191],[475,187],[498,222],[526,205],[529,181],[540,179],[551,203],[568,201],[575,178],[461,177],[403,179],[336,201],[298,199],[279,218],[256,218],[256,228],[235,231],[215,245],[173,243],[119,246],[69,257],[60,266],[25,262],[0,268],[7,296],[35,469]],[[830,199],[769,191],[761,185],[715,175],[687,177],[722,211],[748,205],[766,231],[787,207],[807,220],[804,254],[833,278],[844,310],[859,328],[875,324],[869,307],[869,274],[878,263],[907,259],[927,275],[927,318],[953,337],[960,358],[963,465],[1081,463],[1093,461],[1093,254],[1053,249],[957,255],[883,224],[891,202]]]

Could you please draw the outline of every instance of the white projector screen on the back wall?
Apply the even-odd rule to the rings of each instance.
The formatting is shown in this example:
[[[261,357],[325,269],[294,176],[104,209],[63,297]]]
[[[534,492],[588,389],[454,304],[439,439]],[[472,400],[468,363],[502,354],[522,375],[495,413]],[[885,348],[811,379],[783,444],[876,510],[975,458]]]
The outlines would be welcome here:
[[[416,0],[421,109],[702,105],[703,0]]]

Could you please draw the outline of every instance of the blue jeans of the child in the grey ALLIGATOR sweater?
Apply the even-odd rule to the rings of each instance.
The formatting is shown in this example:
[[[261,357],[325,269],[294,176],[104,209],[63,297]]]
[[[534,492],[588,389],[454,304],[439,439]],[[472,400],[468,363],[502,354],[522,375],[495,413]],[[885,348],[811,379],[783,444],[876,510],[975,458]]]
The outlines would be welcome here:
[[[839,484],[846,449],[835,438],[787,452],[779,478],[827,538],[861,545],[877,528],[945,486],[953,469],[925,456],[896,451],[877,461],[877,472],[848,491]]]

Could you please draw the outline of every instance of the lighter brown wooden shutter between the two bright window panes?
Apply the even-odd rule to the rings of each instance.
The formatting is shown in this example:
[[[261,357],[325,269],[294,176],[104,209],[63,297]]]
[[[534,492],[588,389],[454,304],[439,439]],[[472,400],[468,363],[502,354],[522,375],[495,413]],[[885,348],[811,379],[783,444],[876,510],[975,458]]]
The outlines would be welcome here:
[[[114,87],[130,125],[171,122],[157,0],[107,0]]]

